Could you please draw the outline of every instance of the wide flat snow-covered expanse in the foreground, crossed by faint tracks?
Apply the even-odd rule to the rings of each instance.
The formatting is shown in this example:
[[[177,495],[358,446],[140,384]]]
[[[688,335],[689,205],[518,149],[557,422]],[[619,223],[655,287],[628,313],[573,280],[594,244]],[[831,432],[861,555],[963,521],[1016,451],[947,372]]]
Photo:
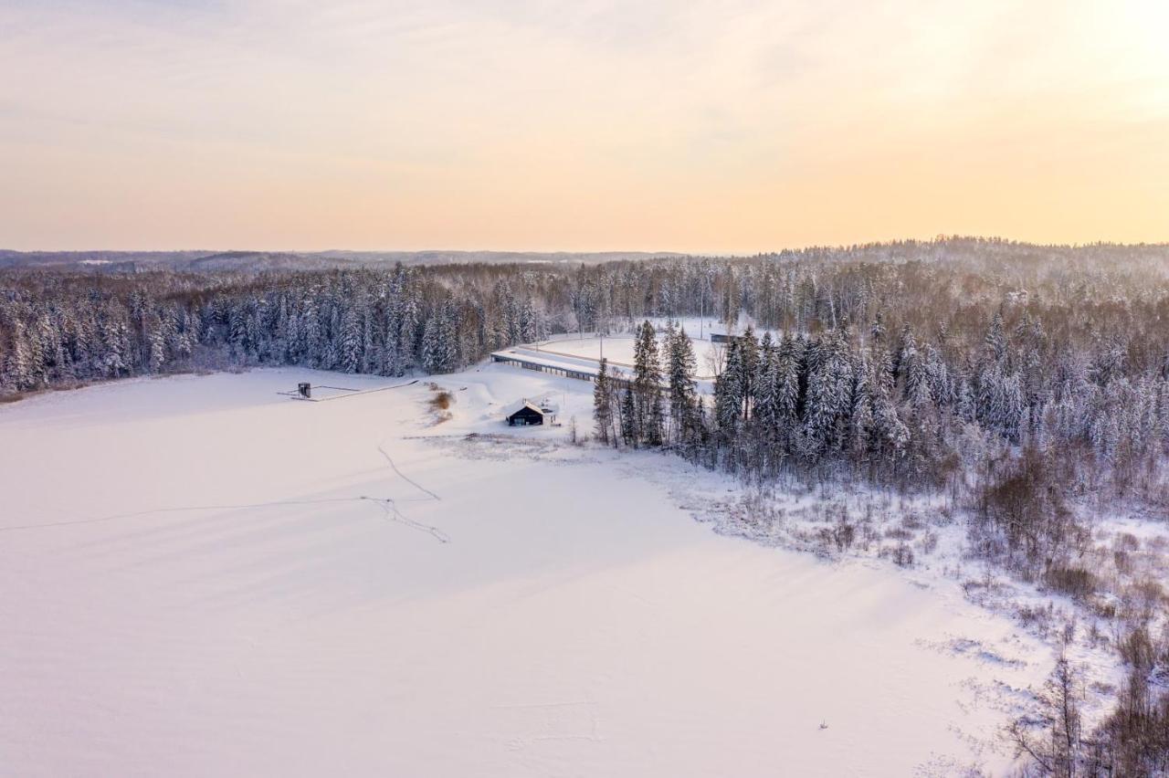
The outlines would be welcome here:
[[[277,394],[300,380],[401,383],[257,370],[0,407],[0,772],[1009,767],[997,734],[1049,648],[887,563],[693,521],[680,461],[566,442],[590,384],[442,376],[436,424],[426,382]],[[540,396],[563,426],[502,424]]]

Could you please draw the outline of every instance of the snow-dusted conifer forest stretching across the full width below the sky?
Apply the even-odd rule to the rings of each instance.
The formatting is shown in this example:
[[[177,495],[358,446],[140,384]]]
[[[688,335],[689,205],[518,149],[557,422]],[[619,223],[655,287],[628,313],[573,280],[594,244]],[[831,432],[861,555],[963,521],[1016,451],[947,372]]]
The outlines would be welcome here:
[[[701,371],[672,324],[691,317],[740,333]],[[595,384],[600,443],[669,449],[749,482],[945,492],[969,508],[970,548],[1028,579],[1084,583],[1068,562],[1088,532],[1078,505],[1169,515],[1167,246],[940,238],[594,265],[12,268],[0,397],[248,366],[445,373],[576,331],[636,336],[632,378],[602,369]],[[717,375],[712,395],[699,373]],[[1163,592],[1154,600],[1164,607]],[[1052,745],[1066,715],[1046,746],[1021,735],[1037,764],[1167,767],[1155,679],[1169,635],[1141,612],[1119,639],[1130,674],[1116,713],[1078,750]]]

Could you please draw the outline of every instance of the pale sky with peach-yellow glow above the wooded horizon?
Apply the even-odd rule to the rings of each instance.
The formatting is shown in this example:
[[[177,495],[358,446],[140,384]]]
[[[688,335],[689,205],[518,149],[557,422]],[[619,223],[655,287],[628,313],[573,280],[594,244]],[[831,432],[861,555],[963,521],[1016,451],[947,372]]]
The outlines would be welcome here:
[[[1165,0],[4,0],[0,248],[1169,241]]]

